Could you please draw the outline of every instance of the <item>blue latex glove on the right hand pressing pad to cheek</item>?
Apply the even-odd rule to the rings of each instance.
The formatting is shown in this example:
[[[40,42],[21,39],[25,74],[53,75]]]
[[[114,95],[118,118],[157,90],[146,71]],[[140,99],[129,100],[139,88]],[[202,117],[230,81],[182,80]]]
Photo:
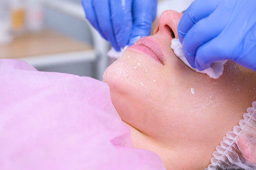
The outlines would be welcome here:
[[[194,68],[234,60],[256,71],[256,1],[196,0],[181,18],[178,37]]]

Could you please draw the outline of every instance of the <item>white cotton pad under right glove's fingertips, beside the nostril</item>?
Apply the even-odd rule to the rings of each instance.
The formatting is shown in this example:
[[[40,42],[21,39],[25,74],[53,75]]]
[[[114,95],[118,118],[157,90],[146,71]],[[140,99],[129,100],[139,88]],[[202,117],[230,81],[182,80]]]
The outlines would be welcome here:
[[[227,62],[227,60],[221,62],[214,62],[208,69],[199,71],[198,69],[194,69],[193,67],[191,67],[191,65],[186,60],[183,52],[183,47],[178,39],[173,39],[171,41],[171,48],[174,50],[175,55],[179,57],[181,61],[184,62],[184,64],[193,69],[195,72],[207,74],[210,78],[213,79],[218,79],[223,74],[224,64]]]

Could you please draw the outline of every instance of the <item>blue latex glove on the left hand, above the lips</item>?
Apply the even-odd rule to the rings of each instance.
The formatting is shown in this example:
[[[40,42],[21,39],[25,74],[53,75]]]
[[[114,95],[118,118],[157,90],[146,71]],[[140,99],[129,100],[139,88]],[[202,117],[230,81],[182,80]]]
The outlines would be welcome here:
[[[119,51],[150,34],[157,0],[82,0],[82,6],[92,26]]]

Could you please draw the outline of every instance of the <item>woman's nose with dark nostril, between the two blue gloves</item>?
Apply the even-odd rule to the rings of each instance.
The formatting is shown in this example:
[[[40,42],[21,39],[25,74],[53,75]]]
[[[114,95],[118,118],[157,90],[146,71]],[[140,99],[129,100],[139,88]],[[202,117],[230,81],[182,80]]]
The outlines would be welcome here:
[[[182,13],[168,10],[164,11],[160,18],[154,34],[168,35],[170,38],[178,38],[178,23],[181,20]]]

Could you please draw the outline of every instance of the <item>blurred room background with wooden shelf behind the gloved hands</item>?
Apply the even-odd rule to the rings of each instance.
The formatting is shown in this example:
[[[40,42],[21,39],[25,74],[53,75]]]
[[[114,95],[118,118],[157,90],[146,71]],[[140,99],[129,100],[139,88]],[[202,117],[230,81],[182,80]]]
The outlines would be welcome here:
[[[159,0],[184,11],[191,0]],[[25,60],[45,72],[102,80],[110,44],[85,19],[80,0],[0,0],[0,59]]]

